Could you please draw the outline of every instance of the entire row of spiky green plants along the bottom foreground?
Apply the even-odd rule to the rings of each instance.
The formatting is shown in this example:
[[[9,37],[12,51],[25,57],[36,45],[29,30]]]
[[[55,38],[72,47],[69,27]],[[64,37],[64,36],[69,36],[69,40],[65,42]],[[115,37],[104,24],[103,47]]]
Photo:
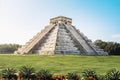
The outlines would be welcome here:
[[[86,69],[82,75],[69,72],[67,75],[53,75],[48,70],[39,70],[31,66],[22,66],[19,71],[13,68],[3,69],[0,80],[120,80],[120,71],[109,70],[105,75],[100,75],[92,69]]]

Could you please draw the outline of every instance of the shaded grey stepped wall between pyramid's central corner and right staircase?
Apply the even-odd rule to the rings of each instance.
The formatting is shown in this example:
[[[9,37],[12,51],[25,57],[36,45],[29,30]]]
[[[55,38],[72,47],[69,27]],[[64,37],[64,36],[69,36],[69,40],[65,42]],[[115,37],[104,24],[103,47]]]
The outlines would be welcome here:
[[[63,23],[59,23],[57,34],[56,53],[57,54],[80,54],[80,51],[75,46],[70,34],[67,32]]]

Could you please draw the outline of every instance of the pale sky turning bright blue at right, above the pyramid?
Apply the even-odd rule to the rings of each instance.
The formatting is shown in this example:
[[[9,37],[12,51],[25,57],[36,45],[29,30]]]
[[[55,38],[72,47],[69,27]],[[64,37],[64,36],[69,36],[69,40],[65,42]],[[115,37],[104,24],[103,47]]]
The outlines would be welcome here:
[[[0,0],[0,44],[25,44],[56,16],[92,41],[120,43],[120,0]]]

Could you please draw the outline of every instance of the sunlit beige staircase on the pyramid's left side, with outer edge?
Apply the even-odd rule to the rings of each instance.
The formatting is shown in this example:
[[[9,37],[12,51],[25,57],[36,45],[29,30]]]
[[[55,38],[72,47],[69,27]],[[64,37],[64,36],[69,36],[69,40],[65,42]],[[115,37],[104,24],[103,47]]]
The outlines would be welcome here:
[[[29,53],[30,50],[54,27],[55,25],[49,25],[46,26],[44,30],[42,30],[40,33],[38,33],[36,36],[34,36],[32,39],[30,39],[29,42],[27,42],[25,45],[23,45],[21,48],[18,49],[18,51],[15,52],[15,54],[25,54]]]

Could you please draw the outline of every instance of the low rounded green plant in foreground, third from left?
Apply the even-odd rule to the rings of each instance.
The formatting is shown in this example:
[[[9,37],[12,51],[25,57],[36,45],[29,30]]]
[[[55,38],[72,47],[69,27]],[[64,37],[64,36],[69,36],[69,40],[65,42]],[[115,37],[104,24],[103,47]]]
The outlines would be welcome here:
[[[52,74],[48,70],[40,70],[36,73],[37,80],[51,80]]]

